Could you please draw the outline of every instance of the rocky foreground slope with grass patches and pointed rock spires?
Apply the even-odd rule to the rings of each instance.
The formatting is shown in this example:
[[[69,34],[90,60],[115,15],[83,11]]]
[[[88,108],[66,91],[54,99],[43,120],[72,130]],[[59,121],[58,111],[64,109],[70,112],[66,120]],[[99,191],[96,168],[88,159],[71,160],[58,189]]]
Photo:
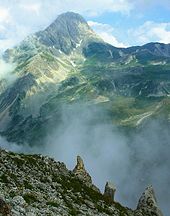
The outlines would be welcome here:
[[[147,188],[136,210],[123,207],[92,184],[78,157],[69,171],[64,163],[42,155],[0,150],[0,215],[162,216],[153,189]],[[111,192],[111,193],[110,193]]]

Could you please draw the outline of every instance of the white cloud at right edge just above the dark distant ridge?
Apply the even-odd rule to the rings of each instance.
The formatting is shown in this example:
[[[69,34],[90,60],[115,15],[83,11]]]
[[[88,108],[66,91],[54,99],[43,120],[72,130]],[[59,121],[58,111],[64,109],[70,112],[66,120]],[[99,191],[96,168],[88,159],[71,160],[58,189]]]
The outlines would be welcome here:
[[[136,29],[130,29],[128,34],[134,38],[137,44],[145,44],[151,41],[170,43],[170,22],[147,21]]]

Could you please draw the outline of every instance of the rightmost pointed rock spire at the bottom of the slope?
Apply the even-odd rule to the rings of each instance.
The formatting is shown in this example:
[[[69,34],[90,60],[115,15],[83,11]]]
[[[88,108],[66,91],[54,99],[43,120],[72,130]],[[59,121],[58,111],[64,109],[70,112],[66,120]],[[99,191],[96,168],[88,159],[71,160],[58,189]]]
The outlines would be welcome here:
[[[137,210],[141,211],[147,216],[163,216],[161,210],[158,207],[155,192],[152,186],[147,187],[145,192],[142,194],[137,206]]]

